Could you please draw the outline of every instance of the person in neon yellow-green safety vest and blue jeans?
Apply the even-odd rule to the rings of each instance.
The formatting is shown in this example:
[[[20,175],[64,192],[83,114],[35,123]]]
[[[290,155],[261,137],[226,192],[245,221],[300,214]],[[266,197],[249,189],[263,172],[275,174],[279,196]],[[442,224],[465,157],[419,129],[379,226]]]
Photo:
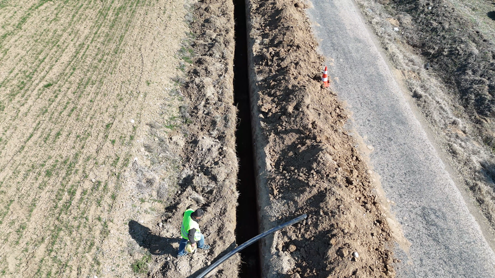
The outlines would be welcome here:
[[[186,250],[186,245],[188,242],[191,244],[192,249],[189,251],[194,251],[196,249],[196,244],[198,244],[199,249],[208,250],[210,246],[204,244],[204,235],[201,234],[199,230],[199,220],[203,217],[204,212],[202,209],[197,209],[196,211],[192,209],[186,210],[183,214],[181,226],[182,239],[179,243],[179,253],[177,258],[189,254]]]

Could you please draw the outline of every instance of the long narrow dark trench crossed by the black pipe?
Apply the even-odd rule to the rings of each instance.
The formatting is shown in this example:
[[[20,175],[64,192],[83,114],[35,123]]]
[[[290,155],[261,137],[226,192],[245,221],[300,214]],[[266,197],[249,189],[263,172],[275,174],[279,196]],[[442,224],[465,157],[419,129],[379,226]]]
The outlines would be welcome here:
[[[258,234],[258,210],[254,180],[254,157],[251,133],[251,110],[249,102],[249,80],[247,75],[247,28],[246,3],[234,0],[234,104],[238,109],[236,131],[239,176],[237,190],[236,240],[242,244]],[[255,242],[241,252],[240,278],[260,278],[259,242]]]

